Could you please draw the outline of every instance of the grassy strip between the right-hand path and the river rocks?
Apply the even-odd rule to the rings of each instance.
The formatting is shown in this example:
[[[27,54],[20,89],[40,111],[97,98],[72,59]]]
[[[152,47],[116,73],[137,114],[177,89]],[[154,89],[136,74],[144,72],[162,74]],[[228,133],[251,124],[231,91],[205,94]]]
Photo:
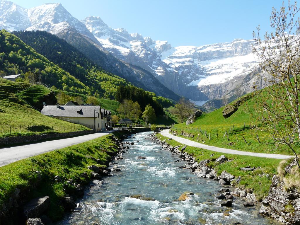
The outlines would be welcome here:
[[[157,135],[161,140],[165,140],[172,146],[183,146],[181,143],[175,140],[168,140],[168,138],[162,136],[161,134]],[[250,192],[253,191],[258,200],[261,200],[268,194],[271,185],[271,178],[277,173],[277,167],[281,161],[279,159],[223,154],[191,146],[187,146],[184,152],[193,155],[195,161],[197,162],[210,159],[211,162],[208,166],[215,168],[218,175],[220,175],[223,170],[226,170],[235,177],[241,176],[241,182],[239,182],[239,184],[235,184],[235,187],[239,187]],[[222,164],[214,162],[215,159],[217,159],[220,155],[225,155],[229,161],[226,161]],[[240,170],[240,167],[246,166],[260,168],[254,171]]]

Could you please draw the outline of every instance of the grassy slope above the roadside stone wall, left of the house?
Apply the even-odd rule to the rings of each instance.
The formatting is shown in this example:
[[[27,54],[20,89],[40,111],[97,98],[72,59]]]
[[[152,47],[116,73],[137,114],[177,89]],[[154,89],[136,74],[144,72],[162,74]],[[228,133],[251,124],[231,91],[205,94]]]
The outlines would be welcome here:
[[[32,108],[30,105],[38,107],[43,101],[54,101],[53,98],[55,97],[44,86],[30,86],[31,84],[0,79],[0,137],[52,132],[62,133],[88,129],[44,116],[38,110]],[[20,92],[16,93],[17,91]]]

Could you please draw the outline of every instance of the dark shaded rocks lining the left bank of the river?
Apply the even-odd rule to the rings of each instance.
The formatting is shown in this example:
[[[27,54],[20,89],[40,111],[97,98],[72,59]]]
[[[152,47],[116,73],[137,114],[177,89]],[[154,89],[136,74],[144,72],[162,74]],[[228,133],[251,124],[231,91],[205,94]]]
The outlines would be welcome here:
[[[112,141],[116,144],[117,149],[114,151],[105,151],[110,155],[108,161],[106,162],[106,167],[99,167],[97,164],[101,162],[100,159],[95,159],[89,155],[86,155],[86,158],[90,158],[95,161],[95,164],[88,166],[88,169],[91,171],[91,174],[82,173],[80,177],[84,178],[85,181],[91,179],[89,186],[85,185],[82,182],[82,179],[79,177],[74,177],[67,181],[62,180],[61,177],[55,176],[53,182],[64,182],[67,192],[67,197],[61,199],[61,206],[65,211],[76,211],[76,207],[79,207],[78,204],[75,204],[75,200],[84,194],[84,190],[91,188],[94,185],[101,186],[104,181],[101,180],[106,176],[111,176],[113,173],[120,171],[117,165],[114,165],[114,160],[123,159],[122,154],[125,151],[128,151],[129,147],[124,145],[133,145],[134,143],[125,143],[122,142],[127,137],[130,137],[131,134],[123,134],[121,138],[117,138],[112,135]],[[111,148],[108,147],[108,148]],[[111,149],[108,149],[111,150]],[[39,171],[36,171],[37,179],[31,184],[32,187],[39,187],[42,178]],[[71,188],[70,188],[71,187]],[[67,191],[69,190],[69,191]],[[0,225],[6,224],[26,224],[26,225],[45,225],[51,224],[51,220],[46,216],[46,212],[49,209],[49,196],[42,196],[36,199],[32,199],[26,203],[27,194],[29,190],[19,190],[16,188],[13,196],[2,205],[0,208]],[[15,219],[13,219],[15,218]],[[26,222],[25,222],[26,221]]]

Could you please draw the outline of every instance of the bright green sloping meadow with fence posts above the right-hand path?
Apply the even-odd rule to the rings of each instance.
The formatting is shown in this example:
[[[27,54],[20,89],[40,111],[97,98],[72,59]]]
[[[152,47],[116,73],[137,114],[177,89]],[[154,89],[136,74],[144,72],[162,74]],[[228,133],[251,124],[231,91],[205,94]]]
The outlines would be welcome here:
[[[238,107],[238,110],[235,113],[226,119],[222,115],[224,108],[222,107],[211,113],[202,114],[194,123],[189,126],[186,126],[185,123],[176,124],[173,130],[177,131],[179,135],[181,131],[193,134],[194,137],[189,138],[190,140],[194,140],[199,143],[205,143],[211,146],[249,152],[292,155],[292,152],[285,145],[275,148],[274,145],[265,145],[259,143],[257,136],[259,137],[260,141],[264,140],[264,138],[270,139],[271,137],[267,133],[263,133],[256,129],[251,129],[250,125],[252,120],[248,112],[254,110],[254,104],[255,103],[252,98],[247,100],[244,104]],[[207,137],[205,135],[205,131]],[[229,140],[225,135],[226,131]],[[229,146],[229,143],[232,145]],[[300,153],[300,146],[296,149],[298,153]]]

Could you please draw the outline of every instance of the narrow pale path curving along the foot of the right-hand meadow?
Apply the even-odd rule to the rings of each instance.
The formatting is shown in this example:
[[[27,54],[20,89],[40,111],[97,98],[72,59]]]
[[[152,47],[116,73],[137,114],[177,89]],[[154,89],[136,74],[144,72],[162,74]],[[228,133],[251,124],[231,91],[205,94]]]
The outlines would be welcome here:
[[[215,146],[209,146],[209,145],[204,145],[195,141],[188,140],[186,138],[182,137],[177,137],[177,136],[172,136],[169,133],[169,130],[162,130],[161,135],[165,137],[172,138],[173,140],[176,140],[184,145],[188,146],[193,146],[197,148],[202,148],[202,149],[207,149],[211,150],[214,152],[222,152],[222,153],[228,153],[228,154],[233,154],[233,155],[249,155],[249,156],[256,156],[256,157],[262,157],[262,158],[273,158],[273,159],[287,159],[291,158],[293,156],[291,155],[279,155],[279,154],[267,154],[267,153],[257,153],[257,152],[244,152],[244,151],[238,151],[238,150],[233,150],[233,149],[225,149],[225,148],[219,148]]]

